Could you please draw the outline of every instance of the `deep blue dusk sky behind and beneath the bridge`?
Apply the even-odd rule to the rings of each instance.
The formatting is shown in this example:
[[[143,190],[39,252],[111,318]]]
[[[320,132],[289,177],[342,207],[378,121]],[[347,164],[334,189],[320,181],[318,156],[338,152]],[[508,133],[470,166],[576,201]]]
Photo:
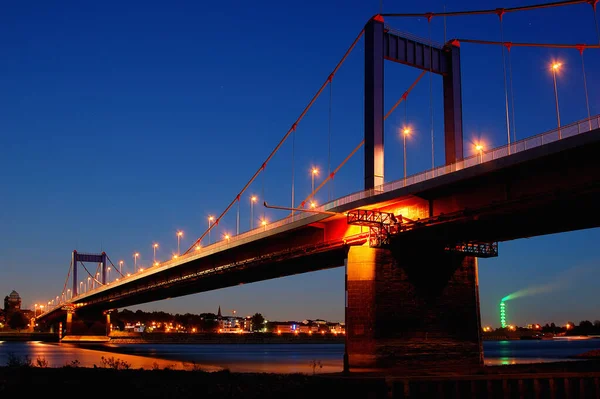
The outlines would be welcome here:
[[[384,2],[384,12],[511,7],[523,1]],[[60,295],[70,252],[104,250],[113,262],[141,263],[187,248],[260,166],[315,93],[379,1],[5,2],[0,12],[0,293],[16,289],[24,306]],[[424,19],[389,19],[427,36]],[[441,18],[432,38],[442,42]],[[505,39],[595,43],[587,4],[510,14]],[[495,16],[447,20],[447,38],[498,40]],[[333,82],[332,168],[362,138],[362,41]],[[499,47],[463,44],[465,148],[506,141]],[[585,53],[591,113],[600,113],[600,57]],[[555,127],[548,63],[563,62],[558,90],[563,123],[587,116],[576,50],[514,49],[517,138]],[[386,64],[386,109],[418,71]],[[436,165],[443,162],[442,95],[433,77]],[[309,169],[327,168],[329,90],[296,136],[296,198],[310,191]],[[408,173],[431,165],[429,78],[409,97]],[[402,176],[397,131],[404,108],[386,122],[386,181]],[[290,203],[291,141],[250,187],[273,204]],[[335,179],[337,197],[362,187],[362,151]],[[327,190],[319,199],[326,199]],[[249,201],[242,202],[242,230]],[[261,207],[255,216],[262,216]],[[269,220],[278,217],[266,211]],[[235,213],[217,234],[235,231]],[[500,244],[480,261],[484,324],[497,325],[500,298],[559,281],[550,293],[509,303],[509,321],[599,319],[595,250],[599,230]],[[343,269],[305,274],[150,303],[168,312],[236,309],[269,319],[343,319]]]

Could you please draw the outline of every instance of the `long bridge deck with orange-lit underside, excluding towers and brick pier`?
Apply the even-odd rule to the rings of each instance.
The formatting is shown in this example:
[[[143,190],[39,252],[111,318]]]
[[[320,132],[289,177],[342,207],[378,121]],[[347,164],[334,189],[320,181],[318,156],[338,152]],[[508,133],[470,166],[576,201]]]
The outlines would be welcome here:
[[[405,217],[393,237],[415,245],[507,241],[600,226],[600,117],[530,137],[406,180],[354,193],[294,218],[232,237],[72,298],[98,312],[344,265],[366,228],[344,212],[376,209]],[[592,128],[592,130],[590,130]],[[509,154],[510,151],[510,154]],[[64,314],[59,305],[38,316]]]

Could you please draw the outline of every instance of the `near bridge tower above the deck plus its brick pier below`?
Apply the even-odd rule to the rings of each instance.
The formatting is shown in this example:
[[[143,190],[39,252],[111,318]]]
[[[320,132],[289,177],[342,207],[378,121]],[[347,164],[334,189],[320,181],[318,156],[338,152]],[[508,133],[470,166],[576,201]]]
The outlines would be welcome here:
[[[460,49],[365,27],[365,189],[384,183],[383,63],[439,74],[445,162],[463,158]],[[431,212],[431,211],[430,211]],[[477,259],[441,242],[391,240],[351,247],[346,259],[345,369],[474,371],[483,365]]]

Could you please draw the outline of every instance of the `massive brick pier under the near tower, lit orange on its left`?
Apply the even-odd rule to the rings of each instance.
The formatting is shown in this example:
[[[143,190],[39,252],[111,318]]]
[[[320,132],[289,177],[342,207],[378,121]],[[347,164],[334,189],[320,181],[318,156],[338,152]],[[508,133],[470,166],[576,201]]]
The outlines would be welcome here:
[[[476,258],[351,247],[350,371],[473,372],[483,366]]]

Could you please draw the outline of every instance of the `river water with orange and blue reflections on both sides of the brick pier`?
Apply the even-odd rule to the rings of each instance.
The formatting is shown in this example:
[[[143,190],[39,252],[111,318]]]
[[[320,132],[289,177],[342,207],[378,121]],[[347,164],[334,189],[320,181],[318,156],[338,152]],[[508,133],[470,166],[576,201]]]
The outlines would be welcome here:
[[[600,339],[485,341],[486,365],[568,360],[593,349]],[[44,359],[49,367],[77,361],[81,367],[102,366],[102,357],[123,360],[131,368],[200,368],[233,372],[312,373],[342,371],[343,344],[98,344],[73,345],[0,341],[0,365],[9,357]]]

